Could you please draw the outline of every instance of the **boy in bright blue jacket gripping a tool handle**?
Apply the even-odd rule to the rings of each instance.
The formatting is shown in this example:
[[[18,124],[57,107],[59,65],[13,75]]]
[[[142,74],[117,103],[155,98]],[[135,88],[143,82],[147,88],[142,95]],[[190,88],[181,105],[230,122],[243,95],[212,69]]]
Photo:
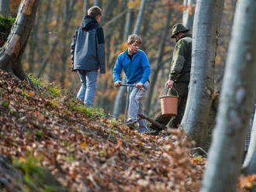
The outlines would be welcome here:
[[[130,35],[127,40],[128,49],[120,53],[113,69],[114,85],[119,87],[121,84],[120,74],[122,70],[126,75],[127,84],[135,84],[130,88],[130,108],[128,122],[137,120],[138,113],[144,113],[142,101],[149,86],[150,63],[146,53],[139,50],[142,43],[140,36]],[[139,121],[139,131],[147,131],[147,123],[144,119]]]

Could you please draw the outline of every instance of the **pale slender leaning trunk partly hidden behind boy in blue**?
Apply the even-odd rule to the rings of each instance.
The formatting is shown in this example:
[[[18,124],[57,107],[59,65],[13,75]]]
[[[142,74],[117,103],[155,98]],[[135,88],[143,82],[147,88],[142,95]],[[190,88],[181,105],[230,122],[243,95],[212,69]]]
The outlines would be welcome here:
[[[140,4],[140,11],[139,11],[139,14],[137,16],[137,21],[136,21],[136,24],[135,24],[135,27],[133,29],[133,33],[136,33],[138,34],[140,32],[140,26],[141,26],[141,22],[142,22],[142,19],[143,19],[143,15],[144,15],[144,10],[145,10],[145,7],[146,7],[146,2],[147,0],[143,0]],[[128,22],[129,22],[130,19],[128,19]],[[127,27],[130,26],[130,23],[126,23]],[[129,31],[129,29],[126,28],[126,37],[128,37],[129,33],[127,34],[127,32]],[[123,78],[122,78],[122,81],[125,81],[125,75],[123,75]],[[119,117],[119,111],[120,111],[120,107],[123,106],[123,94],[124,92],[126,91],[126,87],[124,86],[121,86],[119,87],[119,91],[118,91],[118,94],[116,95],[116,101],[115,101],[115,105],[114,105],[114,111],[113,111],[113,116],[115,118],[118,118]]]

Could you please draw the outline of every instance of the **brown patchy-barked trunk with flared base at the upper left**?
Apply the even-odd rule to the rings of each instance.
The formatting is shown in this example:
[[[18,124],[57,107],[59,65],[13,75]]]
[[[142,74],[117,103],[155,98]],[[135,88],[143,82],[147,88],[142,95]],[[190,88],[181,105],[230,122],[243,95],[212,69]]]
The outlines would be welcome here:
[[[22,0],[16,22],[0,52],[0,68],[11,70],[21,80],[27,78],[20,61],[33,27],[39,2],[40,0]]]

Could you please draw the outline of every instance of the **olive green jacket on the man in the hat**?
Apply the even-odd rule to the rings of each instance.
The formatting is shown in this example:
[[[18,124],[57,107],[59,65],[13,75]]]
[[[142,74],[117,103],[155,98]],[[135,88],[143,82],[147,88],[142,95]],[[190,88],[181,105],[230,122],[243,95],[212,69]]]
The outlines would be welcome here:
[[[192,55],[192,36],[182,36],[175,45],[171,61],[169,79],[175,82],[189,83]]]

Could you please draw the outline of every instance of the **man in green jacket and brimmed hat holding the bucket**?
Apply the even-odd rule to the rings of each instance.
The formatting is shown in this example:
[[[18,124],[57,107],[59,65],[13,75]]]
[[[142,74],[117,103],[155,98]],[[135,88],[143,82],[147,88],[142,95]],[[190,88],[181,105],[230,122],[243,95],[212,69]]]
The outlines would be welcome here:
[[[188,32],[189,29],[186,29],[181,23],[172,27],[171,38],[176,40],[176,45],[172,56],[169,80],[165,83],[165,87],[169,87],[169,95],[176,94],[175,90],[178,92],[178,114],[173,117],[158,115],[155,119],[162,125],[168,125],[171,128],[178,128],[181,123],[188,98],[192,57],[192,36]],[[151,125],[150,128],[161,131],[155,125]]]

